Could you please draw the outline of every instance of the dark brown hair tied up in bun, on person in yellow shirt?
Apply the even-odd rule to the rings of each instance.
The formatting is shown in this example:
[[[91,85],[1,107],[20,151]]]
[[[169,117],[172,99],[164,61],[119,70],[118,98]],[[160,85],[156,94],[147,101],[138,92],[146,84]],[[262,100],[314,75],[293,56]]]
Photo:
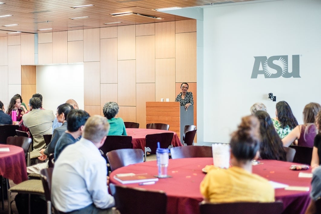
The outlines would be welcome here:
[[[259,127],[260,123],[255,116],[245,116],[238,130],[231,134],[231,152],[238,161],[247,162],[255,158],[260,146]]]

